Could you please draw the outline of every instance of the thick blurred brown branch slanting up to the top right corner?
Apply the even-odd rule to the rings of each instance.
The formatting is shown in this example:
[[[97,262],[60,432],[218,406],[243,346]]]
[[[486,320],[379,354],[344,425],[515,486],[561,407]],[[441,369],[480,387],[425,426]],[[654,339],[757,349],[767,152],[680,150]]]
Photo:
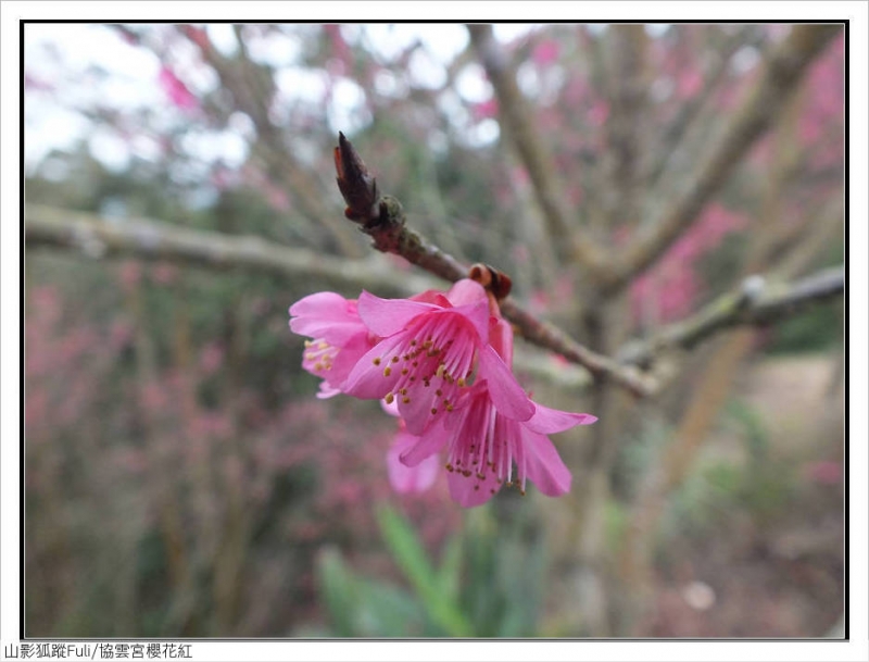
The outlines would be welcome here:
[[[652,234],[628,247],[613,268],[602,272],[606,291],[627,284],[657,260],[725,184],[748,148],[778,118],[809,63],[839,34],[840,25],[796,25],[776,48],[742,108],[709,149],[692,177],[652,224]]]

